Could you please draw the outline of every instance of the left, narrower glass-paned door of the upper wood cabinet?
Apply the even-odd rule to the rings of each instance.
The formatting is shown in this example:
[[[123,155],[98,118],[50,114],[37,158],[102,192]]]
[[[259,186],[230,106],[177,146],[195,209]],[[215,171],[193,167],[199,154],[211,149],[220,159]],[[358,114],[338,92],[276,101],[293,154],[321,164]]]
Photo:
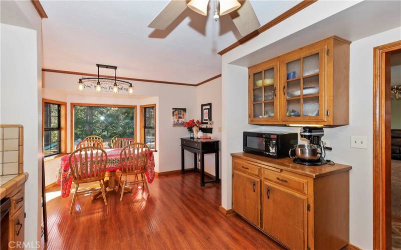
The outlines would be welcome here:
[[[275,64],[252,72],[251,120],[277,119],[277,72]]]

